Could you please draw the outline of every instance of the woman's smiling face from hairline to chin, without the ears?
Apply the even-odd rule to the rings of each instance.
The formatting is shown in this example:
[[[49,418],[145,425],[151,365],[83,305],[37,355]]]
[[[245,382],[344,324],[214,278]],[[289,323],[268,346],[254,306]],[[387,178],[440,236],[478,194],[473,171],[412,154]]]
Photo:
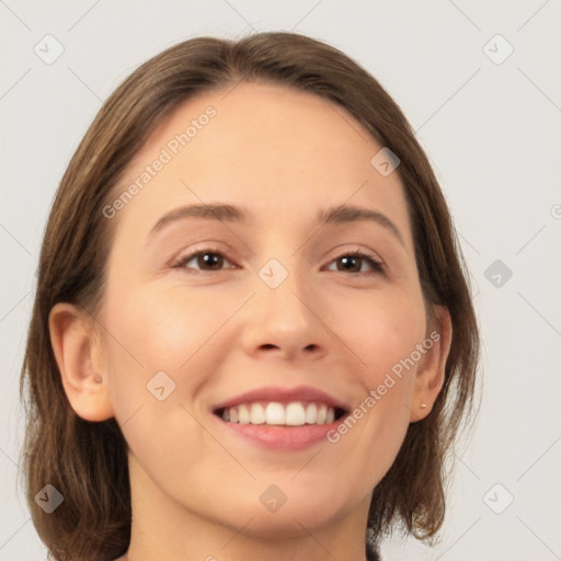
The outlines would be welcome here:
[[[98,318],[135,500],[277,536],[366,516],[432,354],[381,148],[328,101],[241,83],[185,103],[137,154],[104,210]]]

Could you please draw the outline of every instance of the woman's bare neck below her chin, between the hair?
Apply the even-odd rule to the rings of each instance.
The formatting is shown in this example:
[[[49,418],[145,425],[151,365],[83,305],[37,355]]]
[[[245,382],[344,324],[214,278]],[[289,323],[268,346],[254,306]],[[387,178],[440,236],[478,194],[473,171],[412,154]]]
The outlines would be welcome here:
[[[162,493],[134,458],[129,471],[133,526],[129,549],[119,561],[366,560],[370,495],[320,527],[294,516],[285,516],[278,527],[264,527],[255,524],[257,513],[229,524],[227,517],[202,516]]]

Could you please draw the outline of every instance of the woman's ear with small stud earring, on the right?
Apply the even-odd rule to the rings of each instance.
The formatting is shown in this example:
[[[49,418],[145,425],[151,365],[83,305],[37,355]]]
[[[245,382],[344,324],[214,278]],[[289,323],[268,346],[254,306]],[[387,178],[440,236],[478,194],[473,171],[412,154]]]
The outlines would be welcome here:
[[[450,352],[453,335],[451,319],[448,309],[444,306],[435,306],[434,314],[435,322],[433,323],[436,325],[423,342],[425,354],[415,373],[409,405],[411,423],[421,421],[428,415],[445,380],[446,360]]]

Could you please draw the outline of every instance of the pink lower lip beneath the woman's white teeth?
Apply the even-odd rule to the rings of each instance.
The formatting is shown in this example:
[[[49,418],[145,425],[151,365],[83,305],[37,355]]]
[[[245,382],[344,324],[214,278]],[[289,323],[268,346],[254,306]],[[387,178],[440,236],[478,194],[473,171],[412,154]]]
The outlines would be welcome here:
[[[216,415],[214,415],[216,416]],[[217,421],[233,431],[236,434],[264,448],[277,450],[301,450],[309,448],[322,440],[328,442],[327,435],[336,430],[344,417],[329,425],[302,425],[302,426],[272,426],[272,425],[242,425],[229,423],[216,416]]]

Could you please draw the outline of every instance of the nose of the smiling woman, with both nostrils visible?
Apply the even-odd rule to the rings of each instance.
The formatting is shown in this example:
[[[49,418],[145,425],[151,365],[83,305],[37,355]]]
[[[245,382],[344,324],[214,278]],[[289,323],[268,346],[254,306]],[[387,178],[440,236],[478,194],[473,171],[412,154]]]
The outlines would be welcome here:
[[[243,346],[248,354],[282,359],[320,358],[327,352],[329,329],[322,319],[321,298],[313,294],[310,279],[295,271],[276,287],[264,267],[255,282],[255,295],[248,302],[244,318]],[[278,267],[278,265],[277,265]]]

